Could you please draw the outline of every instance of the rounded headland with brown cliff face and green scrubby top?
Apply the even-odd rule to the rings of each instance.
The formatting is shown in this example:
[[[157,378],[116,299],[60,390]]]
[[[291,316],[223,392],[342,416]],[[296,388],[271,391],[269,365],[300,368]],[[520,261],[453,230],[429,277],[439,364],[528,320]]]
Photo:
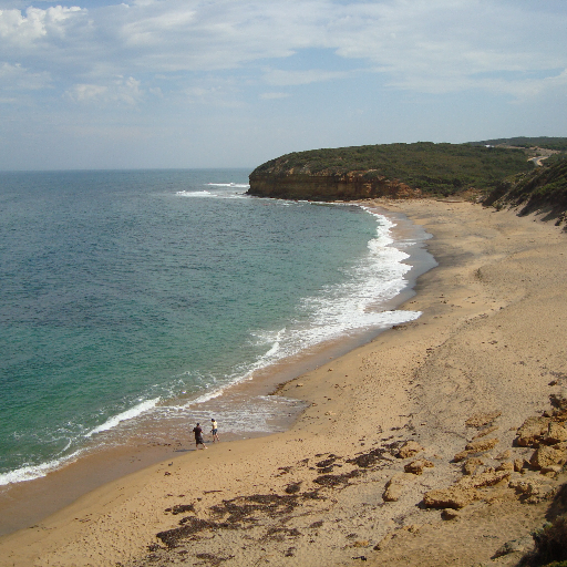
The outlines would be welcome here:
[[[286,154],[257,167],[248,195],[311,200],[411,198],[492,189],[527,172],[523,150],[471,144],[379,144]]]

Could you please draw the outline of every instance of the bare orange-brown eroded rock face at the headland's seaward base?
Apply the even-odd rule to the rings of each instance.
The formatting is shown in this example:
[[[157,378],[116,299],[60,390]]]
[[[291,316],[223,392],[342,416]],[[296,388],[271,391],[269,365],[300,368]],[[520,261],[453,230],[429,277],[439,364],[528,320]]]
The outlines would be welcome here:
[[[412,198],[421,196],[398,179],[386,179],[378,172],[360,171],[317,174],[295,171],[272,171],[250,174],[248,195],[308,200],[355,200],[375,197]]]

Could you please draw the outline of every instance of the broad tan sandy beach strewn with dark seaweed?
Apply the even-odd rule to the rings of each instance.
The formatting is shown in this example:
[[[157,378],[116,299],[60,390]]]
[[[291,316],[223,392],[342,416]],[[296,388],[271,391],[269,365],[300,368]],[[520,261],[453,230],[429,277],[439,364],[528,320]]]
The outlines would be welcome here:
[[[567,388],[567,234],[467,202],[374,205],[433,235],[439,267],[401,306],[417,320],[281,385],[310,404],[289,431],[107,483],[1,538],[0,565],[513,565],[491,558],[566,482],[515,440]],[[475,437],[488,472],[464,476],[454,457]],[[463,502],[424,505],[463,478]]]

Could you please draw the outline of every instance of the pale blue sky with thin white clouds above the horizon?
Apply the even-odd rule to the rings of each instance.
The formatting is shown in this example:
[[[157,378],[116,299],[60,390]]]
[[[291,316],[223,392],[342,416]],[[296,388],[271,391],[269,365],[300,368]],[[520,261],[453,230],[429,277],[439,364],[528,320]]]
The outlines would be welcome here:
[[[0,0],[0,169],[567,136],[565,0]]]

